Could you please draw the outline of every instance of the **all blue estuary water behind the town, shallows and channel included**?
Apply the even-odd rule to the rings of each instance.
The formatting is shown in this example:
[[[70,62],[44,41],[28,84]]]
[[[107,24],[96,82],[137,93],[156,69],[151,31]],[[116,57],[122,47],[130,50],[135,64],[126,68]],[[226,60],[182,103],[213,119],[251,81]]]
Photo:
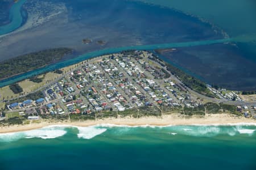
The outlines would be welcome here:
[[[256,36],[253,31],[255,22],[252,22],[256,11],[253,10],[254,2],[236,0],[230,7],[231,1],[222,2],[19,1],[11,7],[11,22],[0,27],[0,35],[1,30],[3,34],[10,32],[8,36],[0,37],[0,61],[57,47],[73,48],[77,56],[71,56],[73,58],[66,62],[1,81],[0,87],[67,66],[68,63],[76,63],[82,58],[96,57],[96,54],[131,48],[147,50],[176,47],[177,53],[164,53],[162,56],[166,61],[188,70],[188,73],[230,90],[256,90]],[[213,6],[215,11],[212,10]],[[24,11],[28,14],[27,18]],[[240,13],[241,17],[238,17]],[[237,27],[234,27],[235,23]],[[17,28],[20,29],[13,32]],[[230,35],[230,39],[221,40],[226,37],[225,33]],[[236,39],[243,35],[253,39]],[[84,38],[92,39],[93,42],[83,44]],[[98,45],[99,40],[106,44]],[[221,41],[216,44],[216,40]],[[222,43],[226,41],[233,43]]]

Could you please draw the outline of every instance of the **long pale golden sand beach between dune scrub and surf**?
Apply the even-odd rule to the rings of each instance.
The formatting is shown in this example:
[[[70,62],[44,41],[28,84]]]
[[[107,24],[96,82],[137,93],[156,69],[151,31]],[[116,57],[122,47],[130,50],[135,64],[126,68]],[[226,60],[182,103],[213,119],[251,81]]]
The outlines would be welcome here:
[[[41,129],[48,126],[179,126],[179,125],[193,125],[193,126],[236,126],[236,125],[251,125],[256,126],[256,120],[237,117],[232,114],[208,114],[203,118],[199,116],[192,116],[184,118],[183,116],[170,114],[163,117],[142,117],[142,118],[105,118],[101,120],[88,120],[82,122],[46,122],[32,123],[29,125],[14,125],[0,127],[0,134],[15,133],[20,131],[29,131]]]

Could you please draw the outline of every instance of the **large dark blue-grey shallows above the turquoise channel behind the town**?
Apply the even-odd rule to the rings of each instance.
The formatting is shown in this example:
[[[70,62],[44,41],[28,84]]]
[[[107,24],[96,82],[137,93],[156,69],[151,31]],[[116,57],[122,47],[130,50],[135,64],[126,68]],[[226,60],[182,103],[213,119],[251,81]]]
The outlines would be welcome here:
[[[65,3],[67,13],[56,15],[40,27],[3,39],[0,60],[57,47],[73,48],[83,54],[117,46],[222,38],[209,24],[196,18],[145,3],[124,0],[45,2]],[[40,6],[36,8],[44,10]],[[93,42],[103,40],[106,45],[83,44],[85,38]]]

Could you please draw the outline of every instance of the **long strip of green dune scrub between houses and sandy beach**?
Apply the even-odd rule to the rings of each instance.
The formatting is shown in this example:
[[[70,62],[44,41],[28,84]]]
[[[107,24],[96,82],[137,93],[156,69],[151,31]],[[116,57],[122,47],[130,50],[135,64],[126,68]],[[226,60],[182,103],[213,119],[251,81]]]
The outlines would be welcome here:
[[[31,94],[32,95],[32,94]],[[38,94],[40,95],[40,94]],[[39,96],[38,96],[39,97]],[[26,99],[28,99],[27,97]],[[23,99],[25,100],[25,98]],[[17,100],[18,101],[18,100]],[[39,112],[39,111],[38,111]],[[164,106],[162,108],[158,107],[142,107],[137,109],[127,109],[126,111],[102,111],[91,114],[53,114],[53,115],[45,115],[40,114],[40,117],[43,120],[48,121],[61,121],[61,122],[80,122],[86,120],[102,120],[104,118],[125,118],[125,117],[133,117],[133,118],[141,118],[141,117],[161,117],[164,114],[177,114],[180,116],[185,116],[189,118],[190,116],[205,116],[207,114],[217,114],[217,113],[229,113],[235,114],[237,116],[241,116],[240,112],[237,112],[236,106],[228,105],[228,104],[216,104],[216,103],[205,103],[199,105],[199,107],[168,107]],[[7,113],[10,114],[10,113]],[[0,126],[9,126],[16,124],[25,124],[26,116],[19,116],[17,113],[10,114],[7,119],[0,121]]]

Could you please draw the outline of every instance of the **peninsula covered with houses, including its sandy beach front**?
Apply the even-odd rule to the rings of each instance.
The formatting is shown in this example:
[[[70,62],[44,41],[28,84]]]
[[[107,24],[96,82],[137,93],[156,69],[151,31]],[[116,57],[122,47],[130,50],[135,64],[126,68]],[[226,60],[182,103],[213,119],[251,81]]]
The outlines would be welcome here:
[[[42,88],[3,99],[0,126],[255,122],[256,103],[208,86],[151,52],[126,50],[55,72],[60,76]]]

